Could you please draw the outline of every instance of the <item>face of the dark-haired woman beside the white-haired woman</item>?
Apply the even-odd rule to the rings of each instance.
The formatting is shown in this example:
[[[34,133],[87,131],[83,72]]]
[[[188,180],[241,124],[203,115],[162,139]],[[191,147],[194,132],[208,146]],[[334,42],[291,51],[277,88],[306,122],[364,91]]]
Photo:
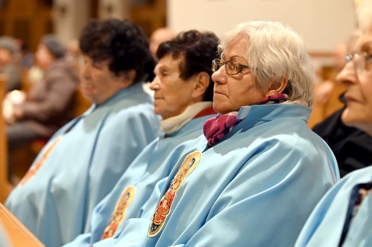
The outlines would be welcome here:
[[[187,106],[192,105],[195,78],[183,80],[179,76],[179,65],[183,57],[174,60],[171,55],[162,57],[155,67],[155,78],[150,89],[155,91],[155,113],[167,119],[181,114]]]

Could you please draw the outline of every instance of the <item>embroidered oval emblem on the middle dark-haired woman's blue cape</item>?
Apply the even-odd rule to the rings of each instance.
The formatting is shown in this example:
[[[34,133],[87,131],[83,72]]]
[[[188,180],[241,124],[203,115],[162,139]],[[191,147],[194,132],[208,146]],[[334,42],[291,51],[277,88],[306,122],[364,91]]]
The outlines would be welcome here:
[[[135,194],[136,188],[134,186],[129,186],[124,190],[122,196],[116,203],[114,213],[111,215],[111,219],[101,236],[101,240],[112,237],[115,234],[119,224],[124,220],[126,210],[129,208],[129,205],[132,202]]]

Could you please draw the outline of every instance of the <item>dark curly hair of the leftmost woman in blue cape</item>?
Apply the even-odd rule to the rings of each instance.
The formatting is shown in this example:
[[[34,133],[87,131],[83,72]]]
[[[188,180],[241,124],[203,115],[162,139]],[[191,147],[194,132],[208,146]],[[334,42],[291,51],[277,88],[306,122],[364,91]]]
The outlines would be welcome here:
[[[148,49],[142,29],[127,20],[91,19],[80,35],[80,49],[93,61],[110,60],[109,69],[119,75],[129,69],[136,71],[134,82],[152,81],[155,60]]]

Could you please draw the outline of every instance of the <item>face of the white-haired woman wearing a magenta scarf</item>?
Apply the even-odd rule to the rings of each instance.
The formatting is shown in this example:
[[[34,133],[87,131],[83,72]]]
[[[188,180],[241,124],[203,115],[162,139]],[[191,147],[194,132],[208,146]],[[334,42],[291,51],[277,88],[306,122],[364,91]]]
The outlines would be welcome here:
[[[248,65],[247,47],[244,47],[240,37],[233,39],[221,55],[221,60],[226,62],[235,60],[242,65]],[[266,97],[268,90],[259,89],[250,70],[244,68],[242,73],[229,75],[225,66],[221,66],[212,74],[214,82],[213,108],[214,111],[227,114],[240,107],[256,103]]]

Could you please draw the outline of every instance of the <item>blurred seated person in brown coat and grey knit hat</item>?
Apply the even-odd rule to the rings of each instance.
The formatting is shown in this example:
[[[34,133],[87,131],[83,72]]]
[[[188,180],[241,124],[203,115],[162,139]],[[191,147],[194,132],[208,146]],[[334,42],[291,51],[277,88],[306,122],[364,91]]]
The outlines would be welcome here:
[[[49,139],[73,118],[79,75],[64,61],[65,53],[53,34],[44,35],[35,52],[36,63],[44,71],[42,79],[27,95],[13,91],[7,96],[13,102],[6,127],[10,152],[36,138]]]

